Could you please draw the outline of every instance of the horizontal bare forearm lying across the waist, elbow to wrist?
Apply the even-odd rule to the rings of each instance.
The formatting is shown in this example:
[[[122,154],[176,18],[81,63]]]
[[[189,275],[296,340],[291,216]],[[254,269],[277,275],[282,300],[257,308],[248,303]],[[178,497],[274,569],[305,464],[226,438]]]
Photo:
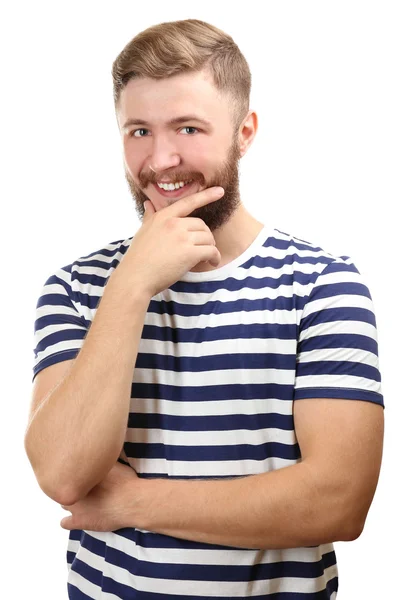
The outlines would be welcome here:
[[[331,496],[297,465],[234,480],[146,481],[134,526],[239,548],[295,548],[349,539],[341,491]]]

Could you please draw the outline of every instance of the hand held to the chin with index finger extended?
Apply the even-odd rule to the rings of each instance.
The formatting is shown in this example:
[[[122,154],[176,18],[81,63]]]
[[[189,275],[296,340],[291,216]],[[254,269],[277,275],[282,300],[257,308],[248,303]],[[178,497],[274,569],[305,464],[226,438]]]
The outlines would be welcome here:
[[[222,188],[207,188],[158,212],[147,200],[142,226],[111,279],[122,281],[127,290],[140,286],[152,298],[202,261],[217,267],[221,254],[210,228],[202,219],[188,215],[219,200],[223,193]]]

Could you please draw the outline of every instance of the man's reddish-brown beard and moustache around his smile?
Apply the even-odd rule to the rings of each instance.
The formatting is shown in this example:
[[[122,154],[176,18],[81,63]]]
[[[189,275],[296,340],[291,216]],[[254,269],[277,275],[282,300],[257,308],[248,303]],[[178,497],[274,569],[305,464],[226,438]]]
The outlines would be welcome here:
[[[196,208],[189,217],[197,217],[202,219],[204,223],[210,228],[211,231],[222,227],[226,223],[233,213],[236,211],[240,204],[240,193],[239,193],[239,161],[240,161],[240,147],[238,140],[234,139],[231,144],[227,158],[219,167],[215,174],[209,179],[205,180],[201,173],[195,173],[190,171],[180,171],[168,173],[169,178],[172,181],[190,181],[193,179],[195,182],[200,184],[201,190],[214,186],[221,186],[225,190],[225,194],[219,200],[210,202],[205,206]],[[142,188],[146,188],[150,183],[156,183],[158,178],[161,178],[162,174],[154,173],[150,171],[148,174],[142,174],[139,176],[139,185],[135,183],[131,175],[128,173],[125,165],[125,178],[128,182],[129,189],[131,191],[133,200],[135,202],[136,213],[139,219],[142,221],[144,216],[144,203],[146,200],[151,200],[144,192]],[[183,197],[183,196],[182,196]],[[166,198],[168,201],[168,199]],[[177,199],[171,199],[169,204],[177,202]]]

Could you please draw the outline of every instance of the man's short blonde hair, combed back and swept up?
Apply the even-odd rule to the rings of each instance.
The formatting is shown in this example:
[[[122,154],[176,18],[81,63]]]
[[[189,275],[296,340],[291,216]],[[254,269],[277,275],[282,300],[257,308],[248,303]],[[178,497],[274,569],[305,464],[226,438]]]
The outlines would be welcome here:
[[[229,96],[237,133],[249,111],[249,65],[231,36],[198,19],[159,23],[125,46],[112,65],[115,109],[131,79],[164,79],[203,70],[210,73],[217,90]]]

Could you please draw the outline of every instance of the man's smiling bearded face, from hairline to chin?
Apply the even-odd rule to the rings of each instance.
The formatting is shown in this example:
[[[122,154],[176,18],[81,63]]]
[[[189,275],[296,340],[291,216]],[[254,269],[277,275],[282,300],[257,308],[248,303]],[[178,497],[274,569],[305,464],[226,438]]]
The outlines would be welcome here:
[[[230,111],[228,99],[218,93],[205,73],[128,82],[121,93],[117,118],[125,177],[140,219],[146,200],[160,211],[179,198],[218,185],[224,188],[224,196],[190,216],[202,219],[211,231],[229,220],[240,204],[239,160],[244,154],[239,136],[233,132]],[[192,118],[168,124],[185,115],[208,123]],[[160,181],[190,180],[193,183],[174,193],[173,198],[165,197],[157,186]]]

